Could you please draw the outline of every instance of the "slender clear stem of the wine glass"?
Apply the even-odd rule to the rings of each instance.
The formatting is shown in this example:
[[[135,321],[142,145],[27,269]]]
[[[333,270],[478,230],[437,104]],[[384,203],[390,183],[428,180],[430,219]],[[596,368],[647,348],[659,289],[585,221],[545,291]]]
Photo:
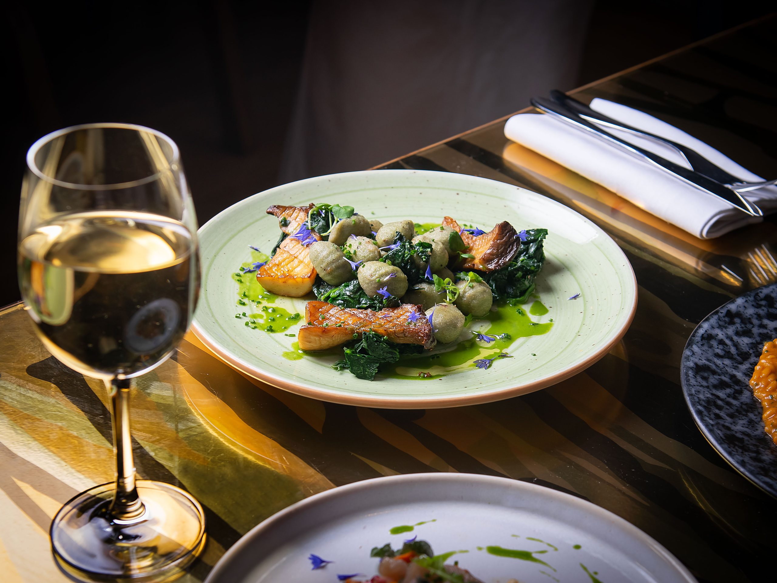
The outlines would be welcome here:
[[[140,518],[145,507],[135,487],[135,463],[130,433],[130,379],[106,381],[110,391],[110,417],[113,421],[113,452],[116,456],[116,492],[110,515],[121,521]]]

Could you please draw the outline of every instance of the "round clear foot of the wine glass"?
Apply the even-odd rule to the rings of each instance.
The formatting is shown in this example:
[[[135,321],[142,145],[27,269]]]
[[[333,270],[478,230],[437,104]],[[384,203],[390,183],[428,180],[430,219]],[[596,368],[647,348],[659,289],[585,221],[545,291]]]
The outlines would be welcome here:
[[[141,517],[119,524],[107,510],[115,485],[102,484],[72,498],[51,522],[51,546],[63,571],[78,581],[172,581],[205,544],[205,515],[190,494],[138,480]]]

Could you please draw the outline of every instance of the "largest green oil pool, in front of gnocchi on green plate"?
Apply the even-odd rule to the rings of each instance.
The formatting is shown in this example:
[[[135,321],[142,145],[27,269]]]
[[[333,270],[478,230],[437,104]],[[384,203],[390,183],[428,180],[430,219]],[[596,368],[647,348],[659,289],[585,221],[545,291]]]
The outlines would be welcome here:
[[[492,358],[498,352],[505,351],[517,338],[539,336],[548,333],[552,323],[536,323],[521,308],[514,305],[502,305],[496,312],[490,312],[481,319],[488,320],[490,326],[483,333],[498,336],[510,334],[510,338],[498,338],[490,344],[478,342],[474,336],[469,340],[459,342],[448,352],[431,354],[420,358],[405,358],[392,367],[386,367],[381,374],[393,379],[430,380],[439,379],[452,372],[462,372],[472,368],[472,361],[478,358]],[[495,362],[493,366],[499,366]],[[419,372],[428,372],[431,376],[420,377]]]

